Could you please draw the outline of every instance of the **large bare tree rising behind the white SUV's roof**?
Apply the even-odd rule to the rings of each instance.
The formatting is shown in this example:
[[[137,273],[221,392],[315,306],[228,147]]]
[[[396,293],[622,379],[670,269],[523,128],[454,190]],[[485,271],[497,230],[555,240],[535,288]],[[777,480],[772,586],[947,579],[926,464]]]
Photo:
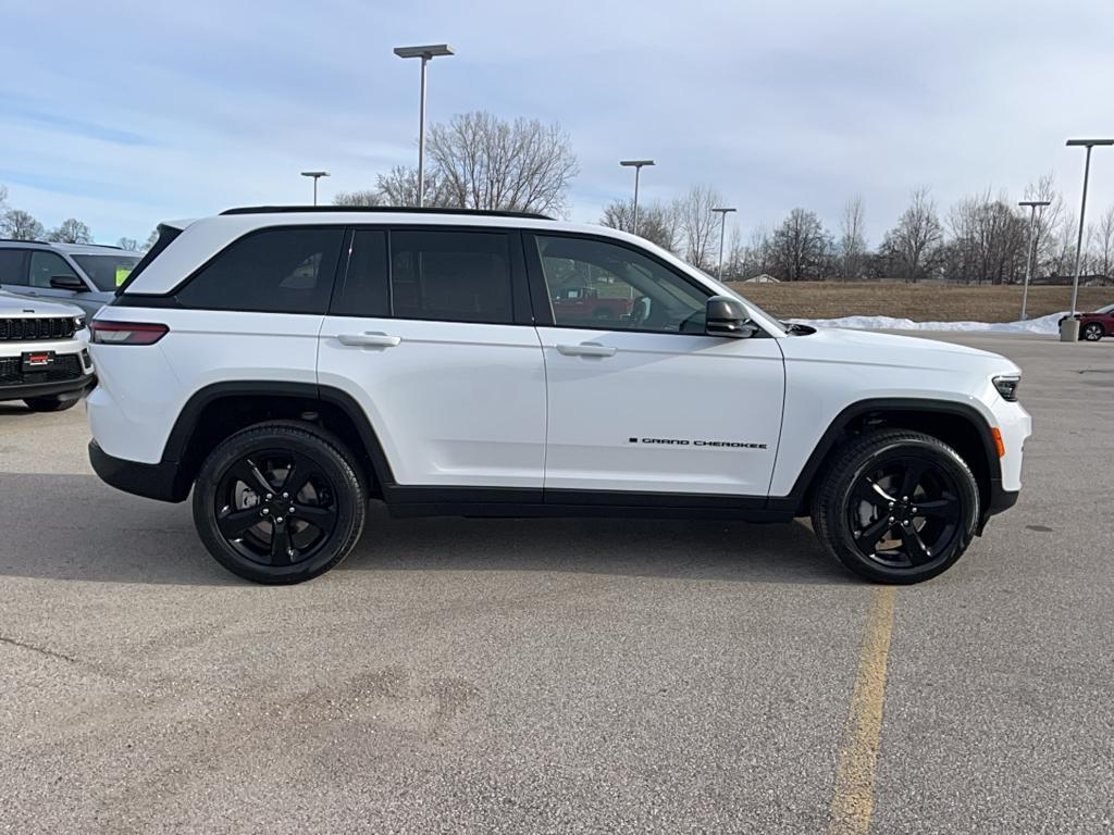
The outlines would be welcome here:
[[[434,125],[428,150],[443,199],[462,208],[559,215],[579,170],[568,135],[556,122],[508,122],[483,111]]]

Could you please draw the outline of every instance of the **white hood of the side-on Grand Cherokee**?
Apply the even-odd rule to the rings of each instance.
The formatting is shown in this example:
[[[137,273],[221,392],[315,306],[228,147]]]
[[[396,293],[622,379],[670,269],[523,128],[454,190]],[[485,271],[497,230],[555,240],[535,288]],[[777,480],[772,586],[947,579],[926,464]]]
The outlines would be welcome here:
[[[786,360],[941,371],[970,371],[973,366],[984,366],[991,373],[1003,374],[1018,371],[1012,361],[989,351],[919,336],[839,327],[820,327],[808,336],[788,336],[781,340],[781,346]]]

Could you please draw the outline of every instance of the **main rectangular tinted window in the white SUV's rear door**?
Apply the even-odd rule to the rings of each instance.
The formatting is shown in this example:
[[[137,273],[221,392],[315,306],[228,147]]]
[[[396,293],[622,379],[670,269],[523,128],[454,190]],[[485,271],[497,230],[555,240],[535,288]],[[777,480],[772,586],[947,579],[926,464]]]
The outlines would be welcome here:
[[[392,232],[391,305],[399,318],[510,324],[507,235]]]

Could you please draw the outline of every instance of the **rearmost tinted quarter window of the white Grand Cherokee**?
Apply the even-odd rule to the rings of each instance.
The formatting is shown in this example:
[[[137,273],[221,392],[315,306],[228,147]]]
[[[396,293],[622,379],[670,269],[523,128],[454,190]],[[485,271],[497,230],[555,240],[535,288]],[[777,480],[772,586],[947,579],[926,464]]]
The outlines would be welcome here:
[[[186,307],[324,313],[342,229],[266,229],[241,238],[178,291]]]

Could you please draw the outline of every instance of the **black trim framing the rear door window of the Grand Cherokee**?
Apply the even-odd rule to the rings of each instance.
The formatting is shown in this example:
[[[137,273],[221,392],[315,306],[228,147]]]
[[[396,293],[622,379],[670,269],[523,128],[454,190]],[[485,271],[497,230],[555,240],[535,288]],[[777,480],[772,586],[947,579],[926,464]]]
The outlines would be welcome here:
[[[388,307],[390,312],[383,316],[365,316],[336,311],[333,307],[333,299],[330,299],[330,316],[342,316],[344,318],[382,318],[397,320],[399,322],[434,322],[452,325],[499,325],[504,327],[532,327],[535,325],[534,310],[530,304],[529,279],[527,274],[526,259],[524,257],[524,246],[521,242],[521,230],[507,226],[482,226],[478,224],[358,224],[348,227],[351,240],[354,242],[358,232],[383,232],[387,234],[387,292]],[[485,235],[502,235],[507,240],[507,265],[510,273],[510,310],[509,322],[489,322],[479,320],[453,320],[453,318],[422,318],[419,316],[397,316],[394,315],[394,282],[393,282],[393,243],[392,234],[395,232],[452,232],[452,233],[478,233]],[[348,282],[348,268],[351,263],[351,249],[348,256],[342,253],[344,261],[344,272],[338,276],[333,284],[334,298],[336,289],[343,287]]]

